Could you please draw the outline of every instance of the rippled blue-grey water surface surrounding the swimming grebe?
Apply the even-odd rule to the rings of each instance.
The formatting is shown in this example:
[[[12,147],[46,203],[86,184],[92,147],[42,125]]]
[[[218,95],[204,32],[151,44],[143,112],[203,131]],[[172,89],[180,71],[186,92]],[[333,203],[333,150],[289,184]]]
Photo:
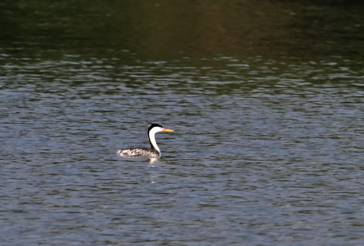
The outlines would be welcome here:
[[[2,243],[362,245],[363,78],[339,58],[7,62]],[[116,156],[151,123],[175,130],[159,160]]]

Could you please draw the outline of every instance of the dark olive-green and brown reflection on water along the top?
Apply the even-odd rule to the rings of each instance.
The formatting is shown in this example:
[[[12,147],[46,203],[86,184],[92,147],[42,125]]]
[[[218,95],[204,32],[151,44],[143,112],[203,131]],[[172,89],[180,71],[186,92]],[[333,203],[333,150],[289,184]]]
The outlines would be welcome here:
[[[0,8],[0,47],[21,56],[55,57],[127,49],[157,60],[217,54],[362,57],[364,6],[338,3],[6,1]]]

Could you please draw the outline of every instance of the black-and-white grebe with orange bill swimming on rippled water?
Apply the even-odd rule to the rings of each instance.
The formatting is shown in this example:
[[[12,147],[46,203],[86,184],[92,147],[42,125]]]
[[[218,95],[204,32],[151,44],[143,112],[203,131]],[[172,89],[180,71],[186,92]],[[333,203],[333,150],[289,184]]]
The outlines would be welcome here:
[[[173,130],[163,128],[161,125],[158,124],[151,124],[148,128],[148,137],[149,137],[149,143],[151,148],[145,148],[145,147],[134,147],[134,148],[126,148],[123,150],[118,150],[116,152],[119,156],[149,156],[149,157],[158,157],[161,156],[161,151],[159,150],[157,143],[155,142],[154,135],[157,132],[161,131],[168,131],[172,132]]]

